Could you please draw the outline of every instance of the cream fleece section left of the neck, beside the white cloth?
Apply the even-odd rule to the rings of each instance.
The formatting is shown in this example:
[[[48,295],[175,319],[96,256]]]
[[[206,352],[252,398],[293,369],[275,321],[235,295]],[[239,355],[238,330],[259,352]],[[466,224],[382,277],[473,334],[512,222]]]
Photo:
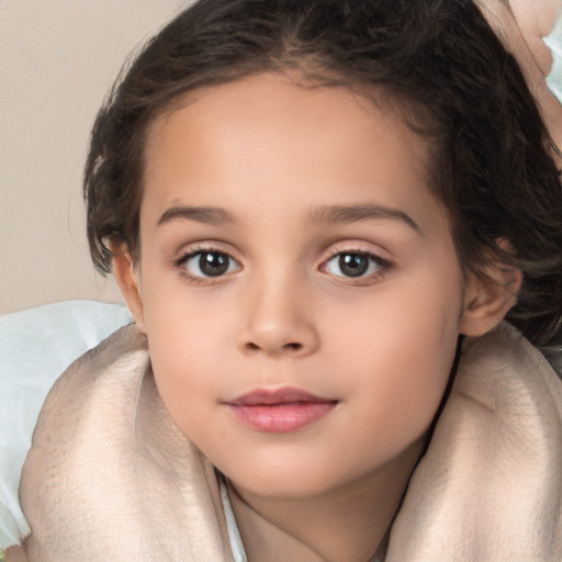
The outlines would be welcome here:
[[[134,325],[57,381],[20,496],[31,561],[227,557],[214,469],[164,407]]]

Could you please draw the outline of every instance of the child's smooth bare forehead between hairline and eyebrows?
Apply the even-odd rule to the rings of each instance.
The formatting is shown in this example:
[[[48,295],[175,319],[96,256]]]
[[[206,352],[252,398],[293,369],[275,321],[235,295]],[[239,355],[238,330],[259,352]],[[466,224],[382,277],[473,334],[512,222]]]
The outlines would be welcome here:
[[[178,199],[244,214],[248,191],[265,206],[317,205],[376,198],[381,187],[395,199],[382,203],[423,204],[430,147],[389,105],[282,75],[190,92],[149,130],[142,218]]]

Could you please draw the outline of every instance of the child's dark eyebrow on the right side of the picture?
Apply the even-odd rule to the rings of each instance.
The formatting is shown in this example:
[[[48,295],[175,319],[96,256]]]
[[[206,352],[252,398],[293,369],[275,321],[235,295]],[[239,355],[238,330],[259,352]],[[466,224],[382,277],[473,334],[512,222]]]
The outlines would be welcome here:
[[[384,205],[360,203],[356,205],[321,206],[308,214],[308,222],[311,224],[346,224],[372,218],[400,221],[416,231],[416,233],[422,234],[422,228],[408,214],[400,209]]]

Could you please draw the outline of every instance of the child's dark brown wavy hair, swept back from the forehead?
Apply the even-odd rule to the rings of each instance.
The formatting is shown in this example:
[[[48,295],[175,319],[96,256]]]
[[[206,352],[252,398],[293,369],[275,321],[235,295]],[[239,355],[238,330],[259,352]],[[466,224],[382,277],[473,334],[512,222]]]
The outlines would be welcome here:
[[[472,0],[199,0],[184,10],[122,71],[93,126],[85,196],[102,273],[109,240],[138,256],[154,120],[196,88],[271,71],[390,102],[434,148],[430,189],[450,213],[464,271],[518,268],[507,319],[537,345],[560,336],[562,189],[551,139]]]

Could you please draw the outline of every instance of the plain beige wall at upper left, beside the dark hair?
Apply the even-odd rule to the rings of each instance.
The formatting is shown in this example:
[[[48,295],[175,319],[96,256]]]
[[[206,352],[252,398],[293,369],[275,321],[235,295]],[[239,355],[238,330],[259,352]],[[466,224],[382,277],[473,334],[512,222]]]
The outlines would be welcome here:
[[[187,0],[0,0],[0,314],[119,301],[94,274],[81,170],[126,54]]]

